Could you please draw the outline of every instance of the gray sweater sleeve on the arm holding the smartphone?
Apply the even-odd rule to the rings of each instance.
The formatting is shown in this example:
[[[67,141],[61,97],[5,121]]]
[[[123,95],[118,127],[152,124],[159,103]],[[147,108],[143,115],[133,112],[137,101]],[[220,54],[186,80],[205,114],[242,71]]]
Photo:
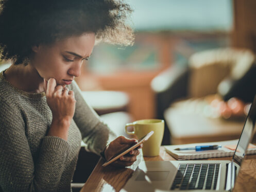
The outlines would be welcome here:
[[[88,106],[76,82],[71,89],[75,93],[76,109],[74,121],[79,128],[82,140],[88,151],[100,154],[116,135],[100,120],[96,112]]]

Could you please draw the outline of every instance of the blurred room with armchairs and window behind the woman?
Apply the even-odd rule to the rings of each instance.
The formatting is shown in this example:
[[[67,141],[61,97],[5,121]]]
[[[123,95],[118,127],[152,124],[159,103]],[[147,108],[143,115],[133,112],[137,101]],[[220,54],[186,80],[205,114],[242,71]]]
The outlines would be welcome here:
[[[256,1],[126,2],[134,45],[94,47],[76,78],[84,98],[120,134],[129,121],[161,118],[163,144],[237,138],[255,94]]]

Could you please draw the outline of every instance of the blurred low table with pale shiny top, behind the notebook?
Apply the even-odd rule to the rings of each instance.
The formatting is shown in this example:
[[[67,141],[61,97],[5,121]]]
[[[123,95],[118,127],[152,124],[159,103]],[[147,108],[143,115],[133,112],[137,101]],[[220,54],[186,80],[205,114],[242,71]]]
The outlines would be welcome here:
[[[173,145],[238,139],[244,127],[244,121],[209,118],[194,112],[193,106],[170,107],[164,118]]]

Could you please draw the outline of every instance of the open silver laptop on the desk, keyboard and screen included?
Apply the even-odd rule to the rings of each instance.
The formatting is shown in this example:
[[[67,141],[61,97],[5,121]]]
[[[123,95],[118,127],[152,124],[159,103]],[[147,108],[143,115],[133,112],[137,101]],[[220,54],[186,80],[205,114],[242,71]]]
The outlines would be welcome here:
[[[232,191],[255,132],[256,96],[231,161],[141,162],[121,191]]]

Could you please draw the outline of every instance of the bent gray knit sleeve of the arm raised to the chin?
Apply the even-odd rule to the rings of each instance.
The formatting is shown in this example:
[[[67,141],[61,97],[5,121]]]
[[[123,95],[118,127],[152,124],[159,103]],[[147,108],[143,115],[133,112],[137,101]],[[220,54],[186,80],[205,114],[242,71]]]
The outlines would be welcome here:
[[[0,191],[56,191],[69,144],[56,136],[42,138],[33,161],[22,112],[0,99]]]

